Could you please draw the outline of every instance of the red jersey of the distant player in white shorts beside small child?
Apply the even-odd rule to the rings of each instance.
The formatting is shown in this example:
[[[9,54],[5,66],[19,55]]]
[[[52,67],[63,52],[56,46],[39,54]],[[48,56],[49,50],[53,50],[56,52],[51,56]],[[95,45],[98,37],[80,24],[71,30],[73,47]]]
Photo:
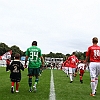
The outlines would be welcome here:
[[[78,58],[75,55],[72,55],[68,58],[69,67],[76,68],[78,63]]]

